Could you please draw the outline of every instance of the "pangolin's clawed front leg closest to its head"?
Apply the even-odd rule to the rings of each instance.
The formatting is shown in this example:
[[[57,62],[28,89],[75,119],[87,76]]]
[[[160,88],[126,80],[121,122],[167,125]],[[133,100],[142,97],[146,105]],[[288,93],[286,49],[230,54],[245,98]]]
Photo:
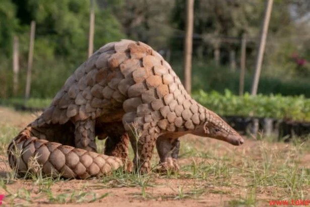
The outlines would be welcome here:
[[[159,164],[161,165],[159,171],[179,171],[179,165],[177,163],[180,149],[179,138],[166,138],[160,136],[156,140],[156,149],[160,158]]]

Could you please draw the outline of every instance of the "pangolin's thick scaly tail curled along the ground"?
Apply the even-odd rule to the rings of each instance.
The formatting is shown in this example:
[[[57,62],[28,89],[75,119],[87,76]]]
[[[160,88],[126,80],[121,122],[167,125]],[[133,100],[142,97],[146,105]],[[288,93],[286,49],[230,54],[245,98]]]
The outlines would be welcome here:
[[[85,122],[83,124],[79,123],[79,126],[89,129]],[[44,129],[46,130],[46,128]],[[45,175],[58,176],[61,174],[65,178],[84,179],[91,176],[107,174],[111,170],[122,166],[122,161],[119,158],[108,157],[104,154],[97,154],[81,149],[83,147],[82,144],[85,142],[83,139],[93,140],[90,136],[81,136],[82,138],[77,142],[81,148],[74,148],[73,146],[61,145],[60,143],[44,140],[46,134],[51,134],[40,134],[40,131],[42,131],[41,128],[33,129],[28,126],[10,143],[8,147],[9,164],[12,169],[17,170],[18,174],[24,175],[28,170],[38,173],[41,166],[42,172]],[[73,136],[77,133],[79,132],[73,131],[68,133],[68,135]],[[41,139],[36,137],[41,137]],[[90,149],[91,147],[91,144],[89,144],[85,148]],[[16,154],[16,150],[22,152],[20,156],[18,155],[18,151],[18,154]],[[35,165],[29,165],[29,163],[33,163],[30,161],[36,156],[38,157],[37,161],[34,162]]]

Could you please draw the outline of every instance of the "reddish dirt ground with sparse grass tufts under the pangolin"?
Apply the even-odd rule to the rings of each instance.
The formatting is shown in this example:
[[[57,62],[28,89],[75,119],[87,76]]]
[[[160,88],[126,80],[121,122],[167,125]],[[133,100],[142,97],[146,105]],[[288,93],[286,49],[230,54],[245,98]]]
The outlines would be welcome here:
[[[0,140],[18,133],[34,117],[0,107]],[[305,143],[251,138],[236,147],[188,135],[181,139],[179,175],[154,172],[140,179],[116,175],[50,181],[9,178],[12,170],[4,145],[0,153],[0,194],[7,196],[4,206],[270,206],[270,199],[310,198],[310,153],[305,148]],[[156,153],[154,164],[158,162]],[[298,181],[292,184],[294,172]],[[96,198],[89,202],[94,195]]]

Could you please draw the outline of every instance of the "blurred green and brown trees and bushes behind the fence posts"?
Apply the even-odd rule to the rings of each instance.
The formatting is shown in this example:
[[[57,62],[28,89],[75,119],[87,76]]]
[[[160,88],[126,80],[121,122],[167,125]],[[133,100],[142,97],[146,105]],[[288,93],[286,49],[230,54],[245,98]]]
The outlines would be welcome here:
[[[196,0],[192,91],[238,94],[241,36],[250,91],[264,0]],[[88,57],[89,0],[2,0],[0,99],[13,97],[13,37],[19,37],[16,97],[24,97],[30,24],[36,22],[32,98],[51,98]],[[275,0],[258,93],[310,97],[310,1]],[[159,51],[182,79],[185,0],[97,0],[94,50],[130,38]],[[216,53],[219,51],[219,53]],[[233,58],[234,57],[234,58]]]

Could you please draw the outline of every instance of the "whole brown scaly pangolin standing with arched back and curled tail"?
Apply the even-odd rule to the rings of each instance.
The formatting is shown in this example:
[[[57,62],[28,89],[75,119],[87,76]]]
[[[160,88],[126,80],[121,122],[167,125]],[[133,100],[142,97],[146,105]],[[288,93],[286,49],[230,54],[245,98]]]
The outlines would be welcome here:
[[[102,46],[67,79],[50,106],[12,140],[9,164],[25,173],[36,157],[44,174],[80,179],[120,166],[145,173],[156,146],[161,166],[177,170],[179,137],[188,133],[243,143],[185,91],[153,48],[122,39]],[[97,153],[96,137],[108,137],[104,154]],[[133,163],[130,143],[137,152]]]

